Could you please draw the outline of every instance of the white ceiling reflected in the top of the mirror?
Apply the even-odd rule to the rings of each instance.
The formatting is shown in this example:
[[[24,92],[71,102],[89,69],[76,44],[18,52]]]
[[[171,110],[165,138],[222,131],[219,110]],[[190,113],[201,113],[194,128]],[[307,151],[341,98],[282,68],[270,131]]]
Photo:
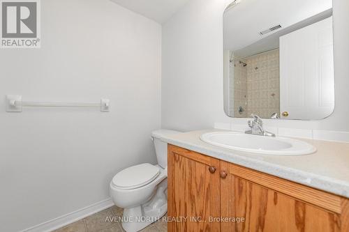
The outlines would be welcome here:
[[[237,51],[276,33],[259,32],[276,25],[283,29],[332,8],[332,0],[243,0],[224,14],[224,48]]]

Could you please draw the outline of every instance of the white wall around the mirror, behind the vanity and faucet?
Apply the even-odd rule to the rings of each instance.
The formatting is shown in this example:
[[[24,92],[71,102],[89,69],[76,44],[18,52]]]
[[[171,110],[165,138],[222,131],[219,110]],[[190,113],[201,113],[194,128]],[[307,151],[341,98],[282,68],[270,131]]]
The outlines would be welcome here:
[[[228,0],[191,0],[163,25],[162,126],[177,130],[246,123],[223,111],[223,10]],[[349,131],[349,1],[334,0],[336,106],[321,121],[266,125]]]

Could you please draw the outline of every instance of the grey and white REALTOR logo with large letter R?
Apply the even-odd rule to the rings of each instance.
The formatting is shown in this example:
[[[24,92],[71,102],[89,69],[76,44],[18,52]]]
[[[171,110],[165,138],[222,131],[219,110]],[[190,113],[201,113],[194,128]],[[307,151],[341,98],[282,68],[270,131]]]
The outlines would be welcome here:
[[[40,47],[39,0],[0,0],[1,48]]]

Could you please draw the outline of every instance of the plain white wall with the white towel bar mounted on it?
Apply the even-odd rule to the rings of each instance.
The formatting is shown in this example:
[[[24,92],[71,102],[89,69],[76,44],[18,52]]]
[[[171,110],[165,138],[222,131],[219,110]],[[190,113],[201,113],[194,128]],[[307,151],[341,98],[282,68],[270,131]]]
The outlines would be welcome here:
[[[103,201],[115,173],[156,163],[161,26],[109,0],[45,0],[41,12],[41,49],[0,50],[0,98],[112,108],[6,113],[0,101],[0,231]]]

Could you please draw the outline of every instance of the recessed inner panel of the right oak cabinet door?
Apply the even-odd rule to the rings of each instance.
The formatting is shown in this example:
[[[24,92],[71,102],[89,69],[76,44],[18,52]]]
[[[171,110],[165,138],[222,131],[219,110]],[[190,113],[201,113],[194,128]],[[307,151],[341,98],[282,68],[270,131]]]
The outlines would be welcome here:
[[[339,217],[290,196],[235,178],[236,231],[339,231]]]

